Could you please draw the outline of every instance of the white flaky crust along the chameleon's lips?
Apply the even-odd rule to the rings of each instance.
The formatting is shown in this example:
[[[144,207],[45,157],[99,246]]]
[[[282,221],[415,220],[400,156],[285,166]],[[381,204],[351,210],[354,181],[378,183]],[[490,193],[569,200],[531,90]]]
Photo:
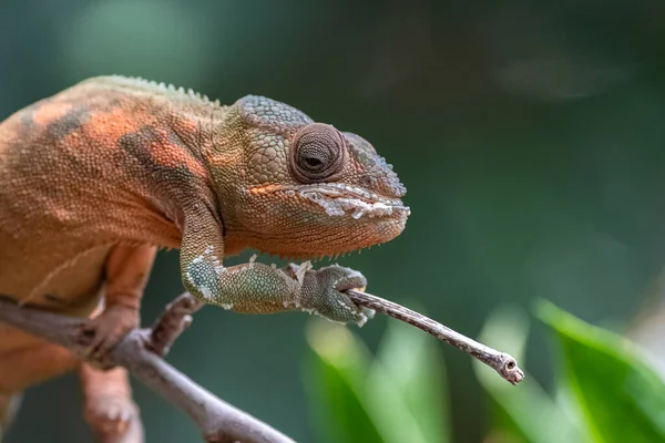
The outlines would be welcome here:
[[[366,189],[338,183],[304,186],[298,189],[298,194],[321,206],[331,217],[350,213],[355,219],[393,215],[406,218],[411,214],[411,209],[399,198],[383,198]]]

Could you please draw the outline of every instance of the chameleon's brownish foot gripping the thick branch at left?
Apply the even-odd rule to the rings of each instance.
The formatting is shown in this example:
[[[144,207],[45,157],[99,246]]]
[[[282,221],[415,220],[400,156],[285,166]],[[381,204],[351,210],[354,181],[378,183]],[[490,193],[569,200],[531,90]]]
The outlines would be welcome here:
[[[104,357],[139,327],[139,310],[122,305],[112,305],[81,327],[80,342],[88,346],[85,358],[104,367]]]

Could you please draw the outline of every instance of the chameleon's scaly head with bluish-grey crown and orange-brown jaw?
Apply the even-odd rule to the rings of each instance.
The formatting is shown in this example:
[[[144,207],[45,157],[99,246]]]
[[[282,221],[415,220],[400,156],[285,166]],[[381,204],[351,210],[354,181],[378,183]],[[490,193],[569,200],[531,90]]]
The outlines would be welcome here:
[[[332,256],[391,240],[403,230],[410,214],[401,202],[406,187],[362,137],[254,95],[237,101],[226,119],[242,127],[239,136],[226,141],[236,145],[231,150],[235,161],[219,168],[225,177],[217,179],[224,186],[227,174],[237,174],[232,183],[242,184],[222,193],[232,249]]]

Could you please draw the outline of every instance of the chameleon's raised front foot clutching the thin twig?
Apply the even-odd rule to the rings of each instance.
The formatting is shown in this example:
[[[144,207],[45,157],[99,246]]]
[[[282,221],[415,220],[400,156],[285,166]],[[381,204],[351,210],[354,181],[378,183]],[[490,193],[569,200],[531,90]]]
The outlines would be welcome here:
[[[335,265],[308,270],[303,280],[300,307],[331,321],[362,326],[374,318],[375,311],[354,303],[344,291],[366,287],[362,274],[349,268]]]

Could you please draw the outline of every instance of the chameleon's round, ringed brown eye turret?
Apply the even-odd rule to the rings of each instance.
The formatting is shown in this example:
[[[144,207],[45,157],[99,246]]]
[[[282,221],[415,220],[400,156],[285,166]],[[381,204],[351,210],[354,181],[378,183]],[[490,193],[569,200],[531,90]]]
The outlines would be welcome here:
[[[289,164],[300,182],[329,181],[341,171],[345,153],[344,137],[335,127],[311,123],[295,135]]]

